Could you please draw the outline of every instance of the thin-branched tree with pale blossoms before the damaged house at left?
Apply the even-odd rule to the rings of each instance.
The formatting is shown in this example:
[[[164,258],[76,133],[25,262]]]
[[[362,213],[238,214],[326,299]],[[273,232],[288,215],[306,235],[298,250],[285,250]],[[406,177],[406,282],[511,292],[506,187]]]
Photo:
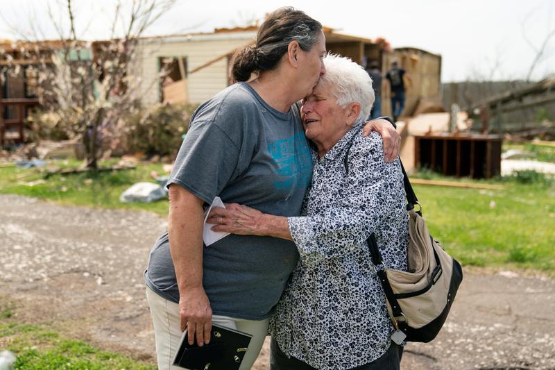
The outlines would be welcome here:
[[[117,1],[110,39],[98,42],[80,39],[74,0],[56,3],[65,8],[65,22],[56,19],[49,3],[60,40],[22,43],[25,58],[39,60],[43,107],[56,112],[68,136],[83,143],[89,169],[96,169],[103,155],[103,137],[121,131],[123,117],[137,108],[140,76],[134,63],[139,39],[174,2]]]

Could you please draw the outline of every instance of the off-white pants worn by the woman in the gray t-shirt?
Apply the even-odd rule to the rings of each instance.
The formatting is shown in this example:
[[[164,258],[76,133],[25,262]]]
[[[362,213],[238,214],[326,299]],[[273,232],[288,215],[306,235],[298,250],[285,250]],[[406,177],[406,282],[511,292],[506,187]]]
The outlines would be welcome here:
[[[180,330],[179,305],[168,301],[146,288],[146,300],[151,308],[152,322],[156,341],[156,355],[158,369],[160,370],[182,370],[182,367],[173,366],[173,357],[176,355],[182,332]],[[232,317],[213,315],[212,323],[225,328],[240,330],[253,335],[250,339],[248,350],[245,353],[239,370],[248,370],[253,367],[260,349],[266,339],[268,321],[233,319]]]

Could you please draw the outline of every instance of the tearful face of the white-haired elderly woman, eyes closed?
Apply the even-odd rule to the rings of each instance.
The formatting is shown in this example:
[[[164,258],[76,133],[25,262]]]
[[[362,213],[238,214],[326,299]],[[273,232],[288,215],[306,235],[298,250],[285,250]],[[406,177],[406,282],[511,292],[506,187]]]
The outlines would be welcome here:
[[[305,135],[318,149],[322,146],[329,150],[350,129],[347,124],[348,108],[337,104],[332,86],[318,83],[311,95],[303,100],[302,126]]]

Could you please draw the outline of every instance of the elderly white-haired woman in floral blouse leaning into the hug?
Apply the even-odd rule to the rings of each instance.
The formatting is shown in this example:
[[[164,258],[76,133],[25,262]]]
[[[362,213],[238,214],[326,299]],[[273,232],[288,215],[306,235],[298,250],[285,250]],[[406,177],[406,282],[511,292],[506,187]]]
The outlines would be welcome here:
[[[382,138],[360,135],[374,101],[368,74],[328,55],[301,109],[313,174],[301,217],[244,205],[218,208],[214,230],[293,240],[300,260],[271,325],[271,369],[399,369],[402,347],[366,239],[374,233],[388,267],[407,269],[408,216],[399,160]]]

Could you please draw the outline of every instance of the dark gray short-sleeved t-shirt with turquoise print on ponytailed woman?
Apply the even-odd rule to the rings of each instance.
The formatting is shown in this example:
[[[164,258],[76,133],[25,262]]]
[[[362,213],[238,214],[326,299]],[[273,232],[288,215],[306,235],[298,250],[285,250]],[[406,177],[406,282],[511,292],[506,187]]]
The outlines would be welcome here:
[[[191,117],[168,184],[185,187],[206,203],[220,196],[262,212],[298,216],[312,171],[298,109],[268,106],[246,83],[201,105]],[[278,303],[298,261],[293,242],[228,235],[203,247],[203,285],[214,314],[265,319]],[[146,285],[179,301],[168,234],[157,239]]]

